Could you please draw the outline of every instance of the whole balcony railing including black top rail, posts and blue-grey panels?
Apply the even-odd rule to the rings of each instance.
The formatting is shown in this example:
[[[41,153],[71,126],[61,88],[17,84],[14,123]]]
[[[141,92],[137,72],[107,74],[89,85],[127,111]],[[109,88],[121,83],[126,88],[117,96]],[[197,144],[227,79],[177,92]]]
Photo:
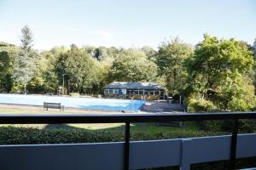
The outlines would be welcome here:
[[[10,115],[0,124],[125,123],[125,141],[93,144],[16,144],[0,146],[1,169],[138,169],[256,156],[256,134],[237,135],[238,120],[256,119],[256,112],[120,115]],[[233,120],[232,135],[192,139],[130,141],[133,122],[191,122]]]

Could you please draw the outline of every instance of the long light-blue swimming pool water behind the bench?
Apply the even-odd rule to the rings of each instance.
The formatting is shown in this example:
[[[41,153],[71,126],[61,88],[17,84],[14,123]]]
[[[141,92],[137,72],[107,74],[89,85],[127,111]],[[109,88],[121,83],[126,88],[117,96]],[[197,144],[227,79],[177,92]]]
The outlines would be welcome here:
[[[65,107],[105,110],[139,111],[144,100],[74,98],[47,95],[0,94],[0,103],[18,105],[44,105],[44,102],[61,103]]]

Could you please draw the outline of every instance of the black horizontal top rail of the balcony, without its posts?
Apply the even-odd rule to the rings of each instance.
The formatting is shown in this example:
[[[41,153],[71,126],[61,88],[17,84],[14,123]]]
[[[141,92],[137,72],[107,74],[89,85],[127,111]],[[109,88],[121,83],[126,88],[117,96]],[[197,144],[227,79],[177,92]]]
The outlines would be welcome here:
[[[173,113],[173,114],[1,114],[0,124],[58,124],[110,122],[189,122],[207,120],[256,119],[256,112]]]

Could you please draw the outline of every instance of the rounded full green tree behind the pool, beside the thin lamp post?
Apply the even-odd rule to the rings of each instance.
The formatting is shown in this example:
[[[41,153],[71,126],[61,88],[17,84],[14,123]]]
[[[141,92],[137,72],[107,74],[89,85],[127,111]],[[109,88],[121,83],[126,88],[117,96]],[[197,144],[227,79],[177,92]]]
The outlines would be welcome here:
[[[72,45],[67,53],[60,55],[56,71],[60,79],[66,74],[69,93],[83,93],[86,89],[91,89],[96,82],[96,61],[75,45]]]

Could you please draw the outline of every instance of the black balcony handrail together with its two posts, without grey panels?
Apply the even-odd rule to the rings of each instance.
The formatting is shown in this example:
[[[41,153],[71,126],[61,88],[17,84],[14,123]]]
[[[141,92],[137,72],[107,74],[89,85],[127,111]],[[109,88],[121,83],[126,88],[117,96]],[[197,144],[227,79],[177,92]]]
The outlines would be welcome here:
[[[130,156],[130,123],[131,122],[189,122],[207,120],[233,120],[230,148],[230,169],[236,169],[236,143],[239,119],[256,119],[256,112],[224,113],[172,113],[172,114],[1,114],[0,124],[58,124],[58,123],[125,123],[124,169],[129,169]]]

